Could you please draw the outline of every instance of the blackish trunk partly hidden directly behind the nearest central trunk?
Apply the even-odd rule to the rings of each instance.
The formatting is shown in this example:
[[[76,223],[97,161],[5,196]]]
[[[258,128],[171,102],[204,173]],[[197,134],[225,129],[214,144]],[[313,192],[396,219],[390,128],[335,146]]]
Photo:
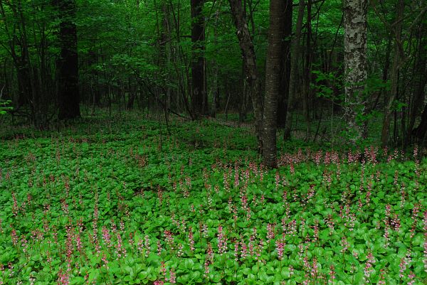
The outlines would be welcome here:
[[[292,36],[292,0],[286,0],[283,16],[284,41],[282,52],[282,72],[280,72],[280,92],[278,100],[278,127],[285,127],[286,109],[288,106],[290,80],[290,37]]]

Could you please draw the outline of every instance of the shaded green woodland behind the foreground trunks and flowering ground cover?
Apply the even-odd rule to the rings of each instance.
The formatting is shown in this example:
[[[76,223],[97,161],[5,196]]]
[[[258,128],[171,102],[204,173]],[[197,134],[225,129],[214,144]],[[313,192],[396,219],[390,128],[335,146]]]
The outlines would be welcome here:
[[[160,112],[166,122],[228,115],[252,122],[254,90],[264,100],[271,78],[270,11],[280,9],[274,20],[280,56],[273,58],[280,70],[274,66],[272,75],[278,75],[274,118],[283,138],[348,141],[345,4],[288,0],[275,9],[273,2],[1,0],[0,108],[13,124],[39,129],[102,109]],[[426,2],[361,2],[367,5],[367,79],[357,124],[364,139],[382,146],[423,144]],[[253,74],[251,46],[242,45],[245,29]]]

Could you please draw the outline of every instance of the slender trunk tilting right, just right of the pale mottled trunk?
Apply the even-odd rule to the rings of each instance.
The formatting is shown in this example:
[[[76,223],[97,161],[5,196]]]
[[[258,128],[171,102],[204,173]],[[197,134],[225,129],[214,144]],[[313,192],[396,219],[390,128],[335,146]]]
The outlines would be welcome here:
[[[402,33],[402,18],[404,16],[404,8],[405,2],[404,0],[399,0],[399,4],[397,6],[397,19],[395,29],[395,43],[394,43],[394,60],[393,66],[391,68],[391,88],[390,88],[390,97],[384,109],[384,119],[381,130],[381,145],[383,147],[387,146],[389,143],[389,129],[390,129],[390,121],[391,121],[391,107],[393,107],[393,103],[396,100],[398,85],[399,85],[399,70],[401,66],[401,33]]]

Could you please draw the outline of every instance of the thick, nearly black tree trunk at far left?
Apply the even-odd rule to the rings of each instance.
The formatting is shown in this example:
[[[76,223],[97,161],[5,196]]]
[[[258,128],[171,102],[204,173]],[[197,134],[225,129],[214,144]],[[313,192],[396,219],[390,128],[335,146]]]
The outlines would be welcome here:
[[[60,59],[58,60],[58,119],[80,117],[75,0],[58,1]]]

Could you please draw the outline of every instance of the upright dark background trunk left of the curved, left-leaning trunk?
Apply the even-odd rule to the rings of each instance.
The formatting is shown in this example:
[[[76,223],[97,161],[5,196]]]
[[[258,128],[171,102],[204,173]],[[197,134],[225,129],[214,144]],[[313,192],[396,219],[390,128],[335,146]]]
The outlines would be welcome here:
[[[191,0],[191,107],[194,116],[207,114],[206,74],[204,59],[204,17],[202,14],[204,0]]]

